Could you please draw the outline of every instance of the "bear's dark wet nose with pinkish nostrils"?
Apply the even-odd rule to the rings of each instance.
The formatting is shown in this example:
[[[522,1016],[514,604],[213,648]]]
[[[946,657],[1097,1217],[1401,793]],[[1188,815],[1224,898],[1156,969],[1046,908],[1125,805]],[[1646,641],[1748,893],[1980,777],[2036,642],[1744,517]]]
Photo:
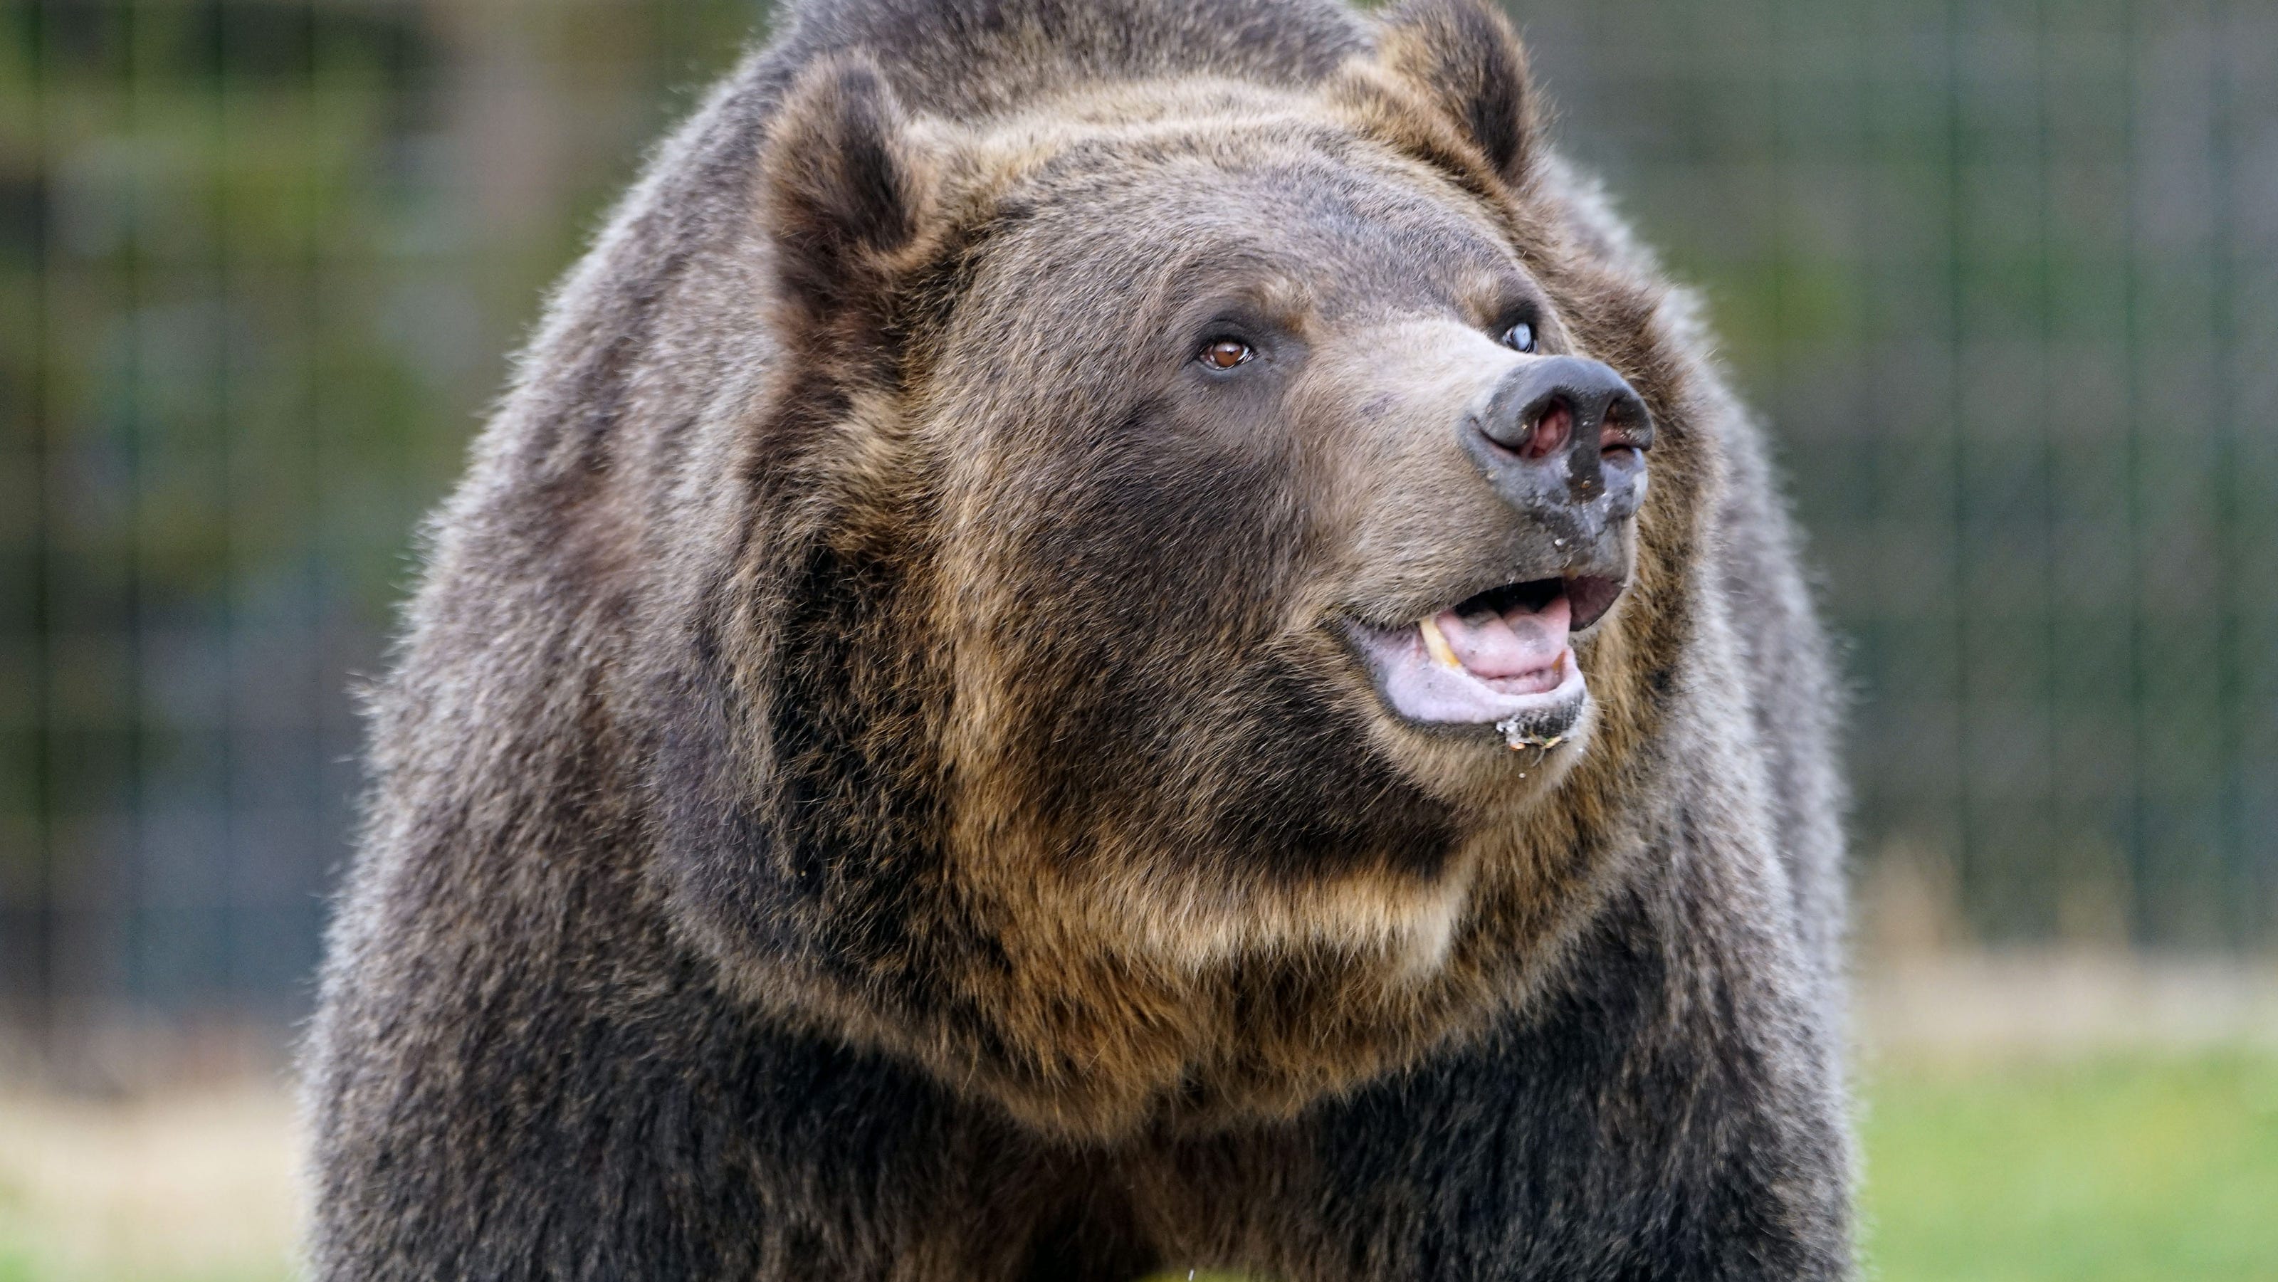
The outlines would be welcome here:
[[[1642,492],[1654,421],[1613,367],[1544,355],[1510,369],[1465,414],[1465,444],[1497,490],[1519,506],[1590,503],[1613,496],[1606,517],[1626,517]]]

